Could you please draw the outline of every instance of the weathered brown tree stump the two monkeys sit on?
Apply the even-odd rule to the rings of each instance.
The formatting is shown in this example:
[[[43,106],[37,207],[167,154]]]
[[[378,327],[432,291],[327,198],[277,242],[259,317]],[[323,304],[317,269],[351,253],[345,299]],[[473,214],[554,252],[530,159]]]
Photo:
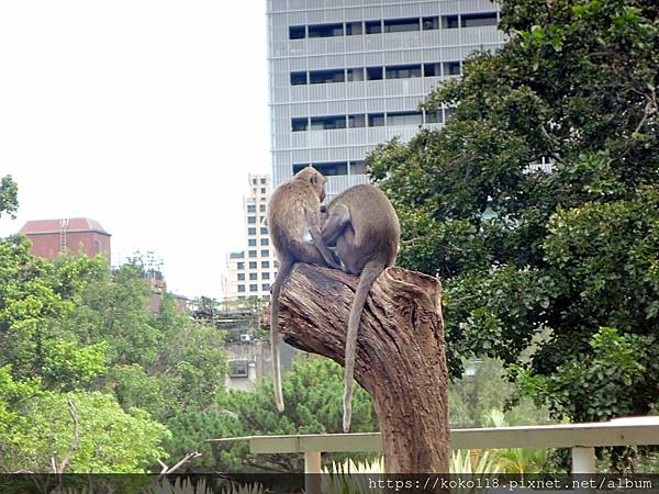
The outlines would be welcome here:
[[[289,345],[344,364],[358,278],[298,263],[280,295],[279,333]],[[380,422],[387,473],[448,473],[450,456],[442,285],[388,268],[361,316],[355,379]]]

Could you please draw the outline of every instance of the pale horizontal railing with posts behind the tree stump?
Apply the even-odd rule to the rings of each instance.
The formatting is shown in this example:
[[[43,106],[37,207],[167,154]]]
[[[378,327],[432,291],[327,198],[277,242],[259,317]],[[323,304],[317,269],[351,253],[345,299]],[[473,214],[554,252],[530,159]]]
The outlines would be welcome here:
[[[304,473],[321,473],[323,452],[381,451],[379,433],[247,436],[252,453],[304,453]],[[593,424],[453,429],[451,449],[570,448],[572,473],[595,472],[595,447],[659,445],[659,417],[618,418]],[[435,472],[421,472],[435,473]]]

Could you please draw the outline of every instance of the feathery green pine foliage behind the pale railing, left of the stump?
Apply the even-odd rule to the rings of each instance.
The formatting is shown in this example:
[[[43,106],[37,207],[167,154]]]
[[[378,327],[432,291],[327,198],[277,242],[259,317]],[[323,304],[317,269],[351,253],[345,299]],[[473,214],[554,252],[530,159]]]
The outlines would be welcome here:
[[[340,433],[343,405],[343,368],[327,360],[299,357],[282,380],[286,411],[277,412],[272,383],[261,381],[255,393],[232,391],[217,400],[219,408],[200,413],[189,409],[171,423],[175,440],[194,438],[202,431],[205,439],[258,435]],[[356,388],[353,396],[353,430],[378,430],[376,415],[366,391]],[[199,442],[198,442],[199,444]],[[180,444],[175,451],[189,445]],[[204,451],[205,452],[205,451]],[[176,456],[176,454],[175,454]],[[345,458],[326,454],[325,461]],[[355,458],[355,456],[351,456]],[[364,456],[362,456],[364,457]],[[201,458],[203,467],[221,471],[300,472],[302,460],[294,454],[259,454],[248,451],[245,441],[215,444],[212,454]]]

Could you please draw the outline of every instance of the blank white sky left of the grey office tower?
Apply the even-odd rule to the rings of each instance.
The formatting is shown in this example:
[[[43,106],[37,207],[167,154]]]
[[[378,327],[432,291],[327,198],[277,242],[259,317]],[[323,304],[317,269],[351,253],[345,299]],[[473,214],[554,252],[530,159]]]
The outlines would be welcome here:
[[[247,175],[270,172],[266,2],[0,2],[0,177],[15,220],[91,217],[113,259],[221,297]]]

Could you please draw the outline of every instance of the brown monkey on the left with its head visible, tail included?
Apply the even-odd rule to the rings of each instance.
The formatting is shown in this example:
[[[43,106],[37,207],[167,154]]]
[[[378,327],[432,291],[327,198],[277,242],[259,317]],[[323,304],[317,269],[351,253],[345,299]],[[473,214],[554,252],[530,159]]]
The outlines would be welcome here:
[[[306,167],[281,183],[268,203],[268,226],[270,238],[279,258],[279,273],[272,283],[272,305],[270,311],[270,346],[272,348],[272,371],[277,409],[283,412],[281,393],[281,363],[277,318],[279,317],[279,293],[283,281],[295,262],[332,266],[338,268],[332,252],[325,247],[321,235],[319,210],[325,199],[325,177],[317,170]],[[305,240],[311,234],[313,244]]]

